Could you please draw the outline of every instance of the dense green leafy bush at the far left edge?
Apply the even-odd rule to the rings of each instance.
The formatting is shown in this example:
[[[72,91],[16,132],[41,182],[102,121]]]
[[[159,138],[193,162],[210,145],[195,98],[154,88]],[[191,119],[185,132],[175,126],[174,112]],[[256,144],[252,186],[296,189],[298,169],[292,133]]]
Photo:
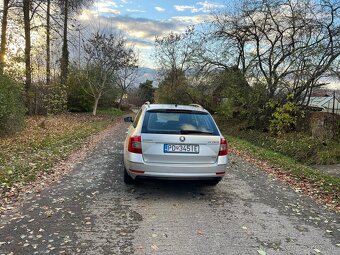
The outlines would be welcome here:
[[[0,135],[19,131],[24,126],[22,86],[8,77],[0,75]]]

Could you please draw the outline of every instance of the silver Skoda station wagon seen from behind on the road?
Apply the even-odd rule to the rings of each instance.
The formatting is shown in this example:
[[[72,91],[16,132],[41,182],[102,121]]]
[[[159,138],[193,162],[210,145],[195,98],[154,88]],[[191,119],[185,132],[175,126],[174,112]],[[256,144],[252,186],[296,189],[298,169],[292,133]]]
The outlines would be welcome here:
[[[145,103],[124,144],[124,182],[140,178],[205,180],[225,175],[228,144],[207,110],[199,105]]]

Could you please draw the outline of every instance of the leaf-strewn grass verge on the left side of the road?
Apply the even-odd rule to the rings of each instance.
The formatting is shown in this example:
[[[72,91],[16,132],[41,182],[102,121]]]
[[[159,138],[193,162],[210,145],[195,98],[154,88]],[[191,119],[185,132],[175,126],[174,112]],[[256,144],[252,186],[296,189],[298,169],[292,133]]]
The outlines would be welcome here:
[[[107,118],[86,114],[27,118],[22,132],[0,140],[0,188],[8,190],[51,171],[87,137],[109,124]]]

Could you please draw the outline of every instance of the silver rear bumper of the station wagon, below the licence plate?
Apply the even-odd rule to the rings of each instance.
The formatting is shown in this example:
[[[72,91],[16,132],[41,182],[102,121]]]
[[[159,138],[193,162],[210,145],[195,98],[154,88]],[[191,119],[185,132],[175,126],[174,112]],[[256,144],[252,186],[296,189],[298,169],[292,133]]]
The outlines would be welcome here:
[[[134,153],[131,153],[134,154]],[[227,157],[219,157],[214,164],[165,164],[145,163],[141,155],[135,154],[125,161],[129,175],[135,178],[211,180],[225,175]]]

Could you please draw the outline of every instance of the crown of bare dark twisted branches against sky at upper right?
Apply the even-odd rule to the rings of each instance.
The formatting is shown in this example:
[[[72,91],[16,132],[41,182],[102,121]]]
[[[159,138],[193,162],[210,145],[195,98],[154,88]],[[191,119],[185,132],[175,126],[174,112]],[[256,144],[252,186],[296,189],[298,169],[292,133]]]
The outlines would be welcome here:
[[[248,1],[235,15],[216,15],[213,35],[233,46],[248,78],[265,82],[268,98],[284,91],[299,101],[339,57],[339,11],[328,0]]]

